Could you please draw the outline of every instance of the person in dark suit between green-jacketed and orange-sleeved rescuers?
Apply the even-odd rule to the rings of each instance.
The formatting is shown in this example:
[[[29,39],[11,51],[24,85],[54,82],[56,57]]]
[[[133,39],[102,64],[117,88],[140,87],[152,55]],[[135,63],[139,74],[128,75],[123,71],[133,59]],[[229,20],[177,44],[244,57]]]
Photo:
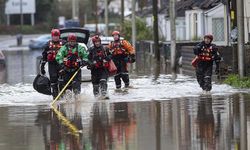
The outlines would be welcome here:
[[[91,79],[93,84],[93,93],[97,97],[100,94],[103,98],[107,98],[107,80],[109,76],[108,66],[111,60],[111,54],[108,48],[101,44],[99,35],[92,37],[93,46],[89,48],[89,63],[91,64]]]

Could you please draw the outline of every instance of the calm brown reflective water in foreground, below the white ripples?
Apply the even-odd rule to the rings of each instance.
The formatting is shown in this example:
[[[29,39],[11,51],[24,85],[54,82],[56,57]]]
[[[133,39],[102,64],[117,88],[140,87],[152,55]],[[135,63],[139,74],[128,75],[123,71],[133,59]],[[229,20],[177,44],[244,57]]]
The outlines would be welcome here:
[[[60,115],[47,106],[3,107],[0,149],[246,149],[250,143],[249,97],[78,101],[57,106]]]

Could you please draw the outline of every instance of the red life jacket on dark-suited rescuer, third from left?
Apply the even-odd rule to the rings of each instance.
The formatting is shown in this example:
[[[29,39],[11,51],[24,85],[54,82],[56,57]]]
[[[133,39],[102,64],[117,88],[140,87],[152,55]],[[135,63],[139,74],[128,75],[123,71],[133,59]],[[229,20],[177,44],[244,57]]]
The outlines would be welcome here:
[[[109,63],[105,60],[107,53],[103,47],[93,49],[93,61],[95,61],[96,68],[108,68]]]

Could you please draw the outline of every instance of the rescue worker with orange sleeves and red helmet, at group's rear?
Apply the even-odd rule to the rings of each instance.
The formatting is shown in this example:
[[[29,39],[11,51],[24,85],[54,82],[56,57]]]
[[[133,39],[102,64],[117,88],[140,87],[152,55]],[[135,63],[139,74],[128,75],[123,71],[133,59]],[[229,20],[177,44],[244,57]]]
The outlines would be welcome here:
[[[120,32],[113,31],[114,41],[110,42],[108,48],[112,54],[112,60],[117,67],[117,74],[114,76],[116,89],[121,89],[121,79],[125,84],[125,88],[129,87],[128,63],[135,62],[135,50],[133,46],[126,40],[120,39]]]

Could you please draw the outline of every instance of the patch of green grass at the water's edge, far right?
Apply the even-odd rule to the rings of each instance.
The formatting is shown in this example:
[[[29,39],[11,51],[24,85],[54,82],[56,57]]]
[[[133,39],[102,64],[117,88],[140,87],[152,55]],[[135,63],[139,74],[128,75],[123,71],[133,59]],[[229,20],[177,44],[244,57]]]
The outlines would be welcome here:
[[[250,77],[240,78],[239,75],[229,75],[224,83],[229,84],[236,88],[250,88]]]

